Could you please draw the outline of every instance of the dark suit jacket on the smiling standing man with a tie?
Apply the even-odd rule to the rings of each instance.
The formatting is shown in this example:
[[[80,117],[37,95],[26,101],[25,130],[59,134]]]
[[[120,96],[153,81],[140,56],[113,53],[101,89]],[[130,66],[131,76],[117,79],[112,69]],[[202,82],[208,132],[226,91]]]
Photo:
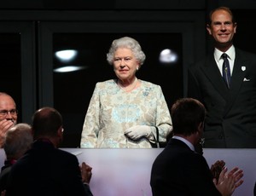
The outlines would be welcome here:
[[[213,55],[188,76],[188,96],[207,108],[204,147],[256,147],[256,55],[236,49],[230,89]]]

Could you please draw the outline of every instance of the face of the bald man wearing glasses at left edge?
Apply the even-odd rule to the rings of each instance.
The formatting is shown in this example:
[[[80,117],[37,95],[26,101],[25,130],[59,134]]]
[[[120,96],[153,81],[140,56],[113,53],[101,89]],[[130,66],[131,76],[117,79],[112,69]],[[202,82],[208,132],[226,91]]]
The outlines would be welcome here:
[[[9,95],[0,95],[0,121],[7,119],[16,124],[17,118],[15,101]]]

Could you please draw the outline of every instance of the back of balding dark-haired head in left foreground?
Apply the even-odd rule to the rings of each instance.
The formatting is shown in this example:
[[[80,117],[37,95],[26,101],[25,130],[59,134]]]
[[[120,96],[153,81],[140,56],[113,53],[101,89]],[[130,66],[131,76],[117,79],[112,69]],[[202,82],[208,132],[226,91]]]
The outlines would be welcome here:
[[[55,137],[61,126],[61,114],[52,107],[40,108],[32,117],[34,139]]]

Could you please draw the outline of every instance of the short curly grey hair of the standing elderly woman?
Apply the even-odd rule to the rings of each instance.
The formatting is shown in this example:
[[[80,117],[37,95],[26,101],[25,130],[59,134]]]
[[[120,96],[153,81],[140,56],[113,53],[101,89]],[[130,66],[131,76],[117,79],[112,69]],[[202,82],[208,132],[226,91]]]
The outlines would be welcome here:
[[[136,60],[139,62],[140,66],[143,65],[146,55],[144,54],[140,44],[131,37],[121,37],[119,39],[114,39],[113,43],[107,54],[107,61],[110,65],[113,65],[113,55],[114,52],[119,48],[131,49]]]

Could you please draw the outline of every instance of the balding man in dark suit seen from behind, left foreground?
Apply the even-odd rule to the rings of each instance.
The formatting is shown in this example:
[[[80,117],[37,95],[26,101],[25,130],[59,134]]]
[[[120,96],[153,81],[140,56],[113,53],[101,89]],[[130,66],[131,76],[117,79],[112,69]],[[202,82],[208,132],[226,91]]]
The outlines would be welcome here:
[[[32,131],[32,148],[12,166],[6,195],[92,195],[90,166],[82,163],[80,168],[75,155],[57,148],[63,134],[61,114],[51,107],[39,109]]]

